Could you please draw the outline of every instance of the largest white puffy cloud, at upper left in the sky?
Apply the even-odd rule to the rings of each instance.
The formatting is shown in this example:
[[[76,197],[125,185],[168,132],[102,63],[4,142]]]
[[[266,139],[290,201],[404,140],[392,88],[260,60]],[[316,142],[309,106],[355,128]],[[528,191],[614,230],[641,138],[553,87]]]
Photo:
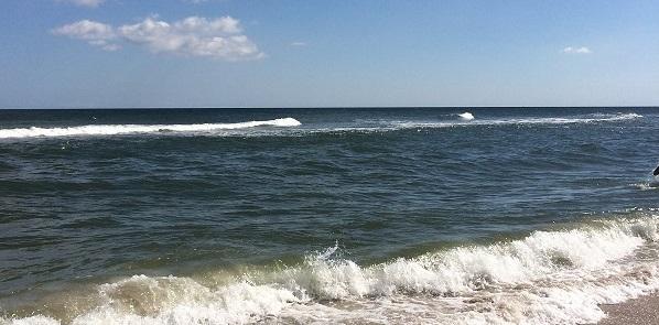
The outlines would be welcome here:
[[[84,20],[53,30],[56,35],[84,40],[107,51],[119,50],[117,42],[122,41],[144,46],[154,53],[228,61],[263,57],[258,46],[241,32],[240,22],[230,17],[188,17],[172,23],[150,17],[139,23],[117,28]]]

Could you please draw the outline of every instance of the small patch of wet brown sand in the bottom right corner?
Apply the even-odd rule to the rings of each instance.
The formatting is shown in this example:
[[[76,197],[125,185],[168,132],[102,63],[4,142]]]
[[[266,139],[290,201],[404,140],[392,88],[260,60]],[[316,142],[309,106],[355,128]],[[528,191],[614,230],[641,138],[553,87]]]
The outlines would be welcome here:
[[[597,323],[599,325],[659,325],[659,294],[657,293],[601,307],[607,316]]]

